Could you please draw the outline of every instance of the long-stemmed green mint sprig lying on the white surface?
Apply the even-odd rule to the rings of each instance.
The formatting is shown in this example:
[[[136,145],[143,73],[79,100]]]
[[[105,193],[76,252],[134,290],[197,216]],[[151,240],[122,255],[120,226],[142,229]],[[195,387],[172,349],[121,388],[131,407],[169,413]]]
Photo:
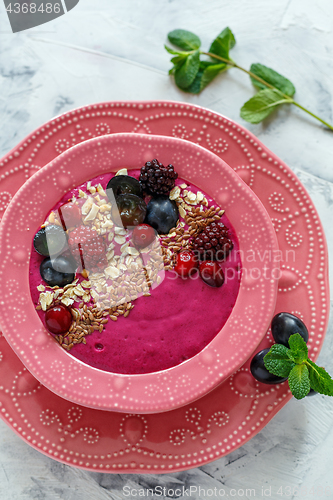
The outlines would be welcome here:
[[[201,40],[191,31],[173,30],[168,34],[168,39],[182,49],[182,52],[178,52],[165,46],[166,50],[175,56],[171,58],[173,67],[169,74],[174,75],[175,83],[181,90],[199,94],[217,75],[229,68],[238,68],[250,76],[253,85],[258,89],[257,94],[240,110],[240,116],[244,120],[260,123],[279,106],[293,104],[333,130],[331,124],[294,100],[296,89],[288,78],[263,64],[252,64],[250,70],[247,70],[233,61],[229,53],[235,46],[236,39],[230,28],[221,31],[211,43],[208,52],[200,50]],[[201,56],[209,59],[204,60]]]

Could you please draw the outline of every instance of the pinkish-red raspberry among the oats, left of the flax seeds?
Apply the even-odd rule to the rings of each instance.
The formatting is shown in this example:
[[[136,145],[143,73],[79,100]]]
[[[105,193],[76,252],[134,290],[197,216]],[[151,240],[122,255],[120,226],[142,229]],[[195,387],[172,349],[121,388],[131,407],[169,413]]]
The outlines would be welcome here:
[[[107,266],[104,239],[94,229],[87,226],[77,227],[69,233],[68,246],[83,269],[98,272]]]

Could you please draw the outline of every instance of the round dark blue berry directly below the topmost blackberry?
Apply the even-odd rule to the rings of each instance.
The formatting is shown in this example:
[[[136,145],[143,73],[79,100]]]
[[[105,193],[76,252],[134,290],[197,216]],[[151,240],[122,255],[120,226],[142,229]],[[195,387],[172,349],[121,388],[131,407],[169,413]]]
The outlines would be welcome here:
[[[159,234],[167,234],[175,227],[179,218],[178,207],[175,201],[168,196],[155,196],[147,205],[145,222],[152,226]]]

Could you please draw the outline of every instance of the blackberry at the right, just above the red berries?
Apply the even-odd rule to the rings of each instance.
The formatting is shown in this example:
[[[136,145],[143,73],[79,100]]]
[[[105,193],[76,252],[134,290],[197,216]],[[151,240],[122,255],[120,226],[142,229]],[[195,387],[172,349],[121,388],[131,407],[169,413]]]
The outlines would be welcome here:
[[[223,222],[212,222],[193,240],[193,249],[202,260],[223,260],[232,249],[228,229]]]

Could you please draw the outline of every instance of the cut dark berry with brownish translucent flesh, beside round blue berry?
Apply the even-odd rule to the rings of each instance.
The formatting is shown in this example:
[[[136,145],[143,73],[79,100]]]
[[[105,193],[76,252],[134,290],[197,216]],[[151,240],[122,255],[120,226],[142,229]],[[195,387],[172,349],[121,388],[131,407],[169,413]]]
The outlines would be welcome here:
[[[112,205],[111,217],[117,226],[137,226],[146,216],[147,205],[144,200],[135,194],[121,194]]]

